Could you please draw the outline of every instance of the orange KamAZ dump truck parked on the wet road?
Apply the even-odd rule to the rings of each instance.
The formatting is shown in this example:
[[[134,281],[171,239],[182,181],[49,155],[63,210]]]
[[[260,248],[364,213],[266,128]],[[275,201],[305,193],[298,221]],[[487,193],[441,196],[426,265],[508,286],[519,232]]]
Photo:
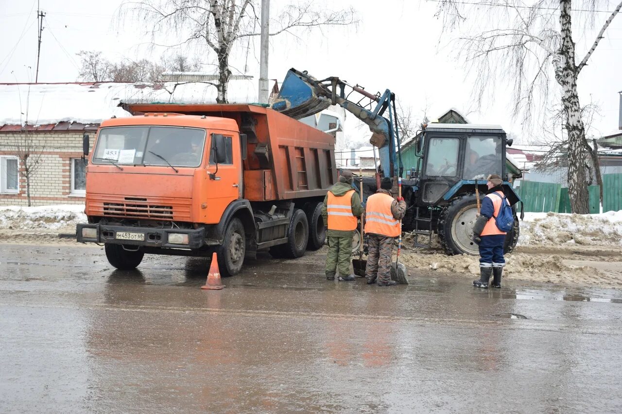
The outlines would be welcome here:
[[[144,254],[211,256],[223,274],[268,250],[300,257],[325,240],[334,138],[249,104],[128,104],[101,123],[86,170],[88,224],[117,269]],[[88,136],[85,154],[88,155]]]

